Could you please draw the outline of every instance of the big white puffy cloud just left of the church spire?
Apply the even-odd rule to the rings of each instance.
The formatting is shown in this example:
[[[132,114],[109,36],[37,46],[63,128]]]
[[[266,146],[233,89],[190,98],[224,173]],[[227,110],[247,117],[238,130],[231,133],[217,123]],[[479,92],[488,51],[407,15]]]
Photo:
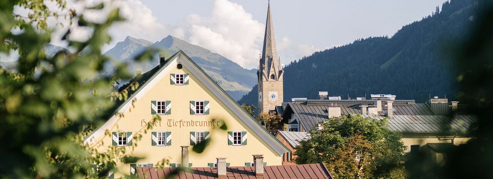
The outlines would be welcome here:
[[[215,0],[210,17],[191,14],[188,41],[253,68],[257,66],[265,25],[253,20],[243,6],[228,0]]]

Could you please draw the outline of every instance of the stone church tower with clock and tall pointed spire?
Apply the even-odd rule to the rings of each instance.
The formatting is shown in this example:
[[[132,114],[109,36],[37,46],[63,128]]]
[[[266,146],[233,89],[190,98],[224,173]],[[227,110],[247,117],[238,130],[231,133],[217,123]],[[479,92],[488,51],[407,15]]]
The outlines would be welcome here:
[[[264,47],[258,66],[258,111],[269,112],[282,105],[282,75],[284,70],[277,54],[276,36],[272,24],[271,4],[267,7]]]

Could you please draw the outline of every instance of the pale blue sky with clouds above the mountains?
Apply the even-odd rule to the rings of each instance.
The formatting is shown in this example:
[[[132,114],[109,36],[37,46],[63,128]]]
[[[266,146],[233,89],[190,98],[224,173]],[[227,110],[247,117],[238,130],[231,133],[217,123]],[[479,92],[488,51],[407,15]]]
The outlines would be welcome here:
[[[281,62],[287,64],[359,38],[391,37],[402,26],[431,14],[443,2],[445,0],[271,0],[270,3],[278,53]],[[83,3],[95,4],[98,0]],[[109,7],[120,7],[127,21],[110,28],[112,41],[104,51],[128,35],[151,42],[172,35],[218,53],[244,68],[258,66],[267,0],[109,0],[108,3],[111,3]],[[76,1],[68,6],[81,9],[80,4]],[[104,17],[100,13],[83,13],[95,21]],[[61,34],[64,30],[55,31]],[[72,38],[83,39],[90,32],[79,29],[72,30],[72,34]],[[56,38],[52,38],[51,43],[66,45]]]

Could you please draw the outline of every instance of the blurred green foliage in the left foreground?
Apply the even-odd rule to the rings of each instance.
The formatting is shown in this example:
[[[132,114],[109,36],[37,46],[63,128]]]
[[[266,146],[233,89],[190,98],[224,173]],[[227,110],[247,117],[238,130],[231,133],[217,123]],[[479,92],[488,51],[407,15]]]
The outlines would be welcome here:
[[[65,8],[64,0],[55,2]],[[106,21],[94,23],[68,10],[70,22],[77,23],[60,40],[73,50],[46,56],[43,46],[52,37],[46,20],[58,14],[44,3],[0,1],[0,52],[16,50],[19,54],[14,70],[0,67],[0,178],[105,178],[109,171],[117,172],[116,161],[139,159],[127,150],[137,146],[140,132],[160,119],[149,119],[149,128],[136,133],[129,149],[97,151],[83,145],[84,137],[111,115],[114,99],[126,99],[128,90],[139,85],[134,82],[128,90],[113,90],[115,80],[131,77],[122,63],[115,64],[114,76],[100,76],[103,64],[114,62],[101,55],[102,46],[110,40],[107,29],[123,18],[118,9],[111,9]],[[29,15],[14,14],[15,6],[28,9]],[[90,7],[101,13],[106,12],[103,8],[104,4]],[[16,28],[22,31],[13,34]],[[73,41],[72,28],[89,29],[92,34],[86,41]],[[149,53],[136,60],[148,59]]]

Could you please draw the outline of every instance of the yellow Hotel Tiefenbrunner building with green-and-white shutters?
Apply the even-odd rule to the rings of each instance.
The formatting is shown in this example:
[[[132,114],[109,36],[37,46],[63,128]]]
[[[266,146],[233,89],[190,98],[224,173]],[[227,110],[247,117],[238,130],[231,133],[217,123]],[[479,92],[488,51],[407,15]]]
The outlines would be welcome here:
[[[115,177],[133,173],[136,166],[152,166],[163,158],[170,159],[171,167],[180,166],[181,146],[193,146],[208,138],[211,143],[203,153],[190,151],[190,166],[210,167],[217,157],[226,157],[231,166],[245,166],[252,162],[253,154],[262,154],[266,165],[282,165],[282,154],[289,149],[182,51],[161,60],[142,76],[150,77],[85,140],[99,151],[119,146],[128,148],[133,156],[145,156],[136,164],[117,162],[120,173]],[[154,115],[161,121],[151,132],[139,132]],[[221,120],[227,130],[218,129]],[[141,135],[137,146],[136,134]]]

